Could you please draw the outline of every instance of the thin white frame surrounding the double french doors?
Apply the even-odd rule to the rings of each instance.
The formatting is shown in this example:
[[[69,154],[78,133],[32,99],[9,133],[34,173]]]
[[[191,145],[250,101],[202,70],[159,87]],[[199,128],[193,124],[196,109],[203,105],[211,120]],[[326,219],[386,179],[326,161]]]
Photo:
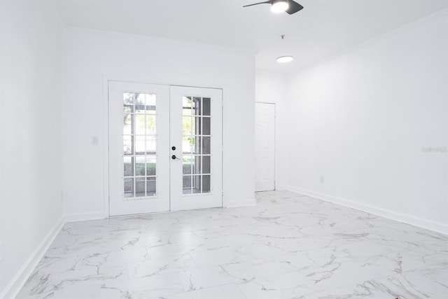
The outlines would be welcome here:
[[[181,86],[181,87],[191,87],[191,88],[207,88],[207,89],[218,89],[222,92],[222,109],[221,109],[221,138],[222,138],[222,157],[221,157],[221,186],[222,186],[222,195],[221,195],[221,207],[226,207],[225,204],[225,197],[224,197],[224,88],[222,87],[203,87],[200,84],[197,85],[190,85],[190,84],[176,84],[176,83],[160,83],[160,82],[148,82],[148,81],[141,81],[141,80],[131,80],[130,78],[120,78],[119,76],[103,76],[103,106],[102,106],[102,118],[103,118],[103,127],[102,127],[102,134],[99,134],[99,132],[95,132],[94,134],[97,134],[99,136],[102,136],[103,141],[99,139],[99,145],[102,146],[102,152],[103,152],[103,203],[104,203],[104,210],[103,212],[94,212],[92,213],[92,216],[90,218],[97,219],[99,214],[102,214],[102,218],[111,218],[116,216],[110,215],[110,194],[109,194],[109,187],[110,187],[110,181],[109,181],[109,82],[123,82],[123,83],[139,83],[139,84],[153,84],[153,85],[167,85],[167,86]],[[171,202],[170,202],[170,209],[171,209]],[[156,212],[156,213],[170,213],[171,211],[166,212]],[[87,217],[88,218],[88,217]]]

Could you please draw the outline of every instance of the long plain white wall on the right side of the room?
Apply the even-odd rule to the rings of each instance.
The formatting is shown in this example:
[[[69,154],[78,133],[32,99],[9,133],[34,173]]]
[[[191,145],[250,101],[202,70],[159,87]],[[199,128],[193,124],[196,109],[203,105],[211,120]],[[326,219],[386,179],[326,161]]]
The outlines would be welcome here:
[[[447,20],[290,76],[290,189],[448,232]]]

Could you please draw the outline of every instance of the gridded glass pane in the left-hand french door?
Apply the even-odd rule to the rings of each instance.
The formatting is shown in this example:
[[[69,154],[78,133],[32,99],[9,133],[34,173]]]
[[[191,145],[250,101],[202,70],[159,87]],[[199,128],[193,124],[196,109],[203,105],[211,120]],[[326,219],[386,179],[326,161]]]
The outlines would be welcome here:
[[[154,94],[123,92],[123,197],[157,195],[157,130]]]

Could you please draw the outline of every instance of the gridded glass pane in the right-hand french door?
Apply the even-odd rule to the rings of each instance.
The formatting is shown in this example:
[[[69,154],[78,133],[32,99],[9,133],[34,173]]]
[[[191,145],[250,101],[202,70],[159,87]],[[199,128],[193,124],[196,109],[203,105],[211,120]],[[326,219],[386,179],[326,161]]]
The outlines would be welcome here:
[[[182,193],[211,194],[211,98],[182,97]]]

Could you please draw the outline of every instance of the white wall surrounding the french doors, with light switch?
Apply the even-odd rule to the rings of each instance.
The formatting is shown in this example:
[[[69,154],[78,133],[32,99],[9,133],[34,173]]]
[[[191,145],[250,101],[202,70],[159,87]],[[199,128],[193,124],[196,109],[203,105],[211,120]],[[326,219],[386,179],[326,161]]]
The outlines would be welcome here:
[[[98,218],[107,181],[106,79],[223,88],[224,201],[253,204],[255,55],[246,50],[70,29],[63,36],[64,209]],[[100,146],[92,146],[92,137]]]

